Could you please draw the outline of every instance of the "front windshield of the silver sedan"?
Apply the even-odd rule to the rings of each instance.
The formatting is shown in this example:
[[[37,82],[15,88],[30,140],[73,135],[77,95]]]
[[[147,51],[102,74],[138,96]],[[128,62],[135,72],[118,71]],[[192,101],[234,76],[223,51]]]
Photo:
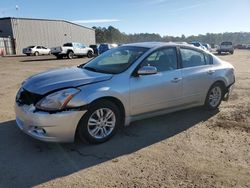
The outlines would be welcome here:
[[[148,48],[121,46],[113,48],[102,55],[91,60],[88,64],[82,66],[84,69],[117,74],[125,71],[130,65],[133,64]]]

